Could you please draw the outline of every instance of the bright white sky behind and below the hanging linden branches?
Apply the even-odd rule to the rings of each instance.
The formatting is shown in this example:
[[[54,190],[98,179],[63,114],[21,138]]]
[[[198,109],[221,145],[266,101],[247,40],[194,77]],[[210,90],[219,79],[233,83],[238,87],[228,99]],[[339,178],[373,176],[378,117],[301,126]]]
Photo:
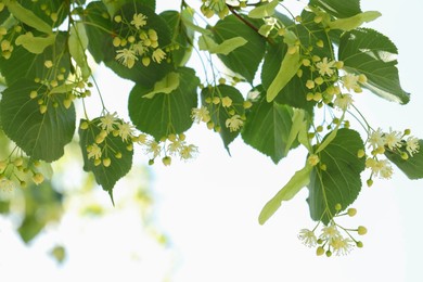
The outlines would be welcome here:
[[[405,106],[370,93],[357,99],[359,108],[375,127],[411,128],[420,138],[423,56],[416,53],[421,42],[412,33],[421,25],[422,9],[419,0],[402,1],[400,5],[394,0],[362,0],[362,10],[382,12],[383,16],[368,26],[387,35],[398,47],[402,87],[412,97]],[[99,72],[99,77],[107,73]],[[108,105],[125,105],[126,98],[121,97],[130,86],[108,76],[99,82],[105,97],[111,92]],[[364,187],[354,205],[358,215],[346,221],[369,229],[362,238],[364,247],[346,257],[317,257],[296,238],[299,229],[313,227],[306,190],[284,203],[265,226],[257,222],[262,205],[302,167],[305,152],[294,151],[275,166],[240,139],[230,146],[232,156],[228,156],[219,137],[204,126],[195,126],[188,139],[200,146],[196,159],[174,162],[166,168],[157,162],[153,167],[156,221],[169,236],[169,247],[161,247],[134,228],[138,219],[133,208],[98,222],[80,222],[70,215],[60,232],[29,248],[12,234],[5,220],[0,220],[1,281],[29,277],[37,281],[158,282],[166,281],[167,274],[171,278],[168,281],[175,282],[423,281],[423,180],[411,181],[396,170],[392,181]],[[119,182],[116,187],[116,201],[124,198],[125,192],[120,191],[127,189],[125,185]],[[62,267],[44,255],[46,245],[52,241],[68,245],[69,259]]]

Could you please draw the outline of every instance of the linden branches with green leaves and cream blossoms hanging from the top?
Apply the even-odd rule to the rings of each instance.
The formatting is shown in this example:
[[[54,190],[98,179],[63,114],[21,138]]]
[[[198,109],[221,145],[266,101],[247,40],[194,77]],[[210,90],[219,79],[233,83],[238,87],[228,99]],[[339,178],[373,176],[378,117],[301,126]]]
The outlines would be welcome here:
[[[0,0],[0,120],[15,146],[0,162],[1,189],[42,183],[46,164],[63,157],[77,134],[84,170],[113,201],[133,150],[151,165],[192,158],[197,148],[184,132],[202,123],[228,151],[241,137],[274,164],[298,146],[308,152],[264,206],[261,225],[307,188],[317,223],[300,230],[303,243],[326,256],[361,247],[357,236],[367,229],[337,222],[355,216],[361,178],[367,185],[389,179],[394,166],[423,178],[423,140],[370,125],[354,102],[364,90],[410,100],[397,48],[362,27],[381,14],[362,11],[359,0],[310,0],[299,13],[289,0],[181,0],[168,11],[156,2]],[[130,120],[111,105],[85,107],[92,92],[101,95],[94,64],[133,81]]]

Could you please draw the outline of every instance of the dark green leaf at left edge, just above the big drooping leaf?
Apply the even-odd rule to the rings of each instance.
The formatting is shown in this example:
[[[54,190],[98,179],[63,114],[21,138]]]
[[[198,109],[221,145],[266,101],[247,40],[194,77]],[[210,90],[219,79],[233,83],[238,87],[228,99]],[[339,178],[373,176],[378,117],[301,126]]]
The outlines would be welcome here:
[[[44,66],[46,61],[51,61],[51,68]],[[62,73],[62,68],[66,69],[65,73]],[[65,33],[59,33],[55,36],[54,44],[47,47],[41,54],[30,53],[24,47],[17,46],[9,60],[0,57],[1,74],[8,85],[12,85],[21,78],[51,81],[56,79],[57,74],[63,74],[66,77],[69,68],[70,55],[67,52]]]

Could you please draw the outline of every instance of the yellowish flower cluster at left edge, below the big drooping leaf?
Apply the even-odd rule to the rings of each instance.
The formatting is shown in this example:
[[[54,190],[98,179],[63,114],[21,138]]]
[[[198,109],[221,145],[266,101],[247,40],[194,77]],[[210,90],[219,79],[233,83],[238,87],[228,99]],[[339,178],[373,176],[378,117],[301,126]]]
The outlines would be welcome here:
[[[16,184],[25,188],[27,179],[35,184],[41,184],[44,176],[38,170],[38,161],[28,161],[23,156],[9,157],[0,161],[0,191],[12,191]]]

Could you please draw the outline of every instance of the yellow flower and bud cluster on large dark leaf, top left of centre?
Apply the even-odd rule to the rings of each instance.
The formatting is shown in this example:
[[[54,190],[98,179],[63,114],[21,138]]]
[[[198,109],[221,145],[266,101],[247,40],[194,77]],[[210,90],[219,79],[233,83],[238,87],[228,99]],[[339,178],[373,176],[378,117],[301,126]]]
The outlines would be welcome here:
[[[141,63],[149,66],[151,60],[159,64],[166,59],[166,52],[158,47],[158,35],[154,29],[144,28],[148,24],[148,16],[142,13],[133,14],[132,21],[128,22],[120,15],[114,17],[116,23],[127,26],[128,34],[125,37],[116,36],[113,46],[120,48],[116,50],[115,59],[128,68],[132,68],[141,57]]]

